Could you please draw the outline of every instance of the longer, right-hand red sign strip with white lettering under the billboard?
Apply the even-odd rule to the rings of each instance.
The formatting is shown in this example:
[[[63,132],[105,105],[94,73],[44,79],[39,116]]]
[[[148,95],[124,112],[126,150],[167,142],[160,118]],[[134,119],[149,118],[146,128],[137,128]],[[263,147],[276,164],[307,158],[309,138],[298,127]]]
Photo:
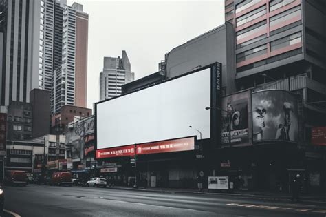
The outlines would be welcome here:
[[[182,152],[195,149],[195,138],[180,138],[137,145],[137,154]]]

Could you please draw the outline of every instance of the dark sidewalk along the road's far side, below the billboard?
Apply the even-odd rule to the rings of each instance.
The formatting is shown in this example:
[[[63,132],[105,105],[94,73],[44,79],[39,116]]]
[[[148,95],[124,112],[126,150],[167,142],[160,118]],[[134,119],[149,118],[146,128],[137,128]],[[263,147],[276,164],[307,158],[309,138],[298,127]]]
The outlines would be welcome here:
[[[128,189],[142,192],[165,192],[165,193],[180,193],[180,194],[208,194],[208,195],[220,195],[230,196],[232,198],[250,198],[250,199],[263,199],[263,200],[274,200],[274,201],[286,201],[291,202],[291,194],[278,193],[278,192],[257,192],[257,191],[234,191],[234,192],[213,192],[204,189],[199,192],[198,189],[180,189],[180,188],[160,188],[160,187],[122,187],[116,186],[115,189]],[[312,194],[301,194],[301,203],[318,203],[326,206],[326,196],[323,195],[312,195]]]

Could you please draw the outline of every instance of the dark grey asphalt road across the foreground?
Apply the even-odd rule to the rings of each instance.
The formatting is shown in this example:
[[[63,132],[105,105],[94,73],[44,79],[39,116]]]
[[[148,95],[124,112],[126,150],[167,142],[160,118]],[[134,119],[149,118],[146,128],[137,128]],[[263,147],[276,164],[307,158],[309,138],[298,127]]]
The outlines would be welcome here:
[[[20,216],[326,216],[326,207],[206,194],[28,185],[5,187]]]

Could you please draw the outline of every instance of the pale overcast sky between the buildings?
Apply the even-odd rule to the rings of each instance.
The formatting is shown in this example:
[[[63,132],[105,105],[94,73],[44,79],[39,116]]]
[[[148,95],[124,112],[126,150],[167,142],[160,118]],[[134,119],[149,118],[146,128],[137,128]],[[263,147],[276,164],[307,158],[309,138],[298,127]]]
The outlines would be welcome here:
[[[224,0],[76,2],[89,14],[89,108],[99,101],[103,56],[122,56],[126,50],[131,71],[140,79],[157,72],[158,63],[172,48],[224,23]]]

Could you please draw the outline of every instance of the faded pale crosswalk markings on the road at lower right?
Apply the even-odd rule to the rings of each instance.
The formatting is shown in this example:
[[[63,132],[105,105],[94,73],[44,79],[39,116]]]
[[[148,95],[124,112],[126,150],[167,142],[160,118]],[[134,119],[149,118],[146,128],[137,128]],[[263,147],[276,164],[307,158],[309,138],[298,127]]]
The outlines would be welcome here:
[[[326,209],[306,209],[306,208],[299,208],[299,207],[281,207],[281,206],[268,206],[268,205],[255,205],[249,203],[227,203],[228,206],[234,207],[248,207],[248,208],[255,208],[255,209],[274,209],[274,210],[288,210],[288,211],[298,211],[302,213],[315,213],[315,214],[326,214]]]

